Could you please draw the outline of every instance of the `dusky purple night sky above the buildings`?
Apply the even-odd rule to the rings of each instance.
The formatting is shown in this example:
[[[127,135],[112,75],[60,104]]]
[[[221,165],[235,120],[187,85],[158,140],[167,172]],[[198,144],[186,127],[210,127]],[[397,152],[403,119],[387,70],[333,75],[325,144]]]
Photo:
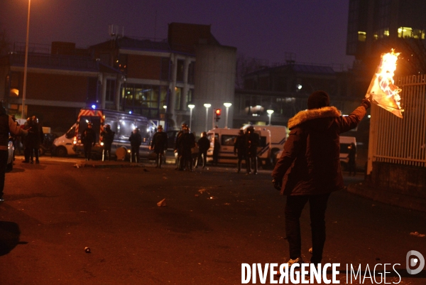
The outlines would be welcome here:
[[[299,63],[351,65],[348,11],[349,0],[31,0],[30,43],[86,48],[109,40],[109,24],[125,36],[165,39],[168,23],[198,23],[247,58],[284,63],[288,52]],[[28,0],[0,0],[11,43],[25,43],[27,14]]]

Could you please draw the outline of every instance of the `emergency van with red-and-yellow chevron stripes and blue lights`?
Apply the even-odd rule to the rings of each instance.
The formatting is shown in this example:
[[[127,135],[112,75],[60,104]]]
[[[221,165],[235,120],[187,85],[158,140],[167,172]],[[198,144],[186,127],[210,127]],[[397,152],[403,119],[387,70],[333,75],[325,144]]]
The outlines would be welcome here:
[[[151,137],[155,126],[146,117],[137,114],[129,114],[109,109],[83,108],[77,117],[77,122],[63,136],[54,141],[55,154],[66,156],[71,154],[84,154],[84,147],[81,142],[81,134],[87,128],[87,123],[92,123],[92,128],[96,133],[96,144],[92,147],[92,158],[102,158],[102,141],[99,137],[104,126],[109,124],[111,131],[114,131],[114,141],[111,146],[111,156],[116,156],[119,160],[130,157],[129,137],[133,129],[138,128],[142,136],[142,144],[139,149],[141,158],[150,158]]]

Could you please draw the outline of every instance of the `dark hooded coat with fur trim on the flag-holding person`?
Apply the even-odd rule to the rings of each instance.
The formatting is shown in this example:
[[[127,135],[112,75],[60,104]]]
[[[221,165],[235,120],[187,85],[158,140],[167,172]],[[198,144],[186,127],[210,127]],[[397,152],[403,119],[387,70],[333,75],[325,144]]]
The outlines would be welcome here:
[[[365,116],[358,107],[341,116],[336,107],[301,111],[288,120],[290,135],[272,176],[283,181],[283,195],[317,195],[343,188],[339,134],[354,129]]]

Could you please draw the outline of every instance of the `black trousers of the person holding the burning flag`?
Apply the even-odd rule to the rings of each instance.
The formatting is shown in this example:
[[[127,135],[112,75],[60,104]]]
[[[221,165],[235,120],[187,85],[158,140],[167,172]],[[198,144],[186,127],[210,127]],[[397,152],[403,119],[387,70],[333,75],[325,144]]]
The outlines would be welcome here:
[[[300,215],[309,201],[312,232],[312,257],[310,262],[318,264],[322,260],[325,243],[325,210],[330,193],[321,195],[287,196],[285,203],[285,232],[287,234],[290,259],[301,257]]]

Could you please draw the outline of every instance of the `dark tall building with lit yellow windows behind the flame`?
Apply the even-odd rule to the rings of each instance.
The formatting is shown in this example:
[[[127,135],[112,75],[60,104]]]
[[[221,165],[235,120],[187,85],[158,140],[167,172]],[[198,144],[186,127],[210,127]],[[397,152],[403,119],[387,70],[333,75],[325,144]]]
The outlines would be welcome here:
[[[381,53],[402,53],[397,75],[426,72],[426,1],[350,0],[346,54],[355,55],[355,69],[371,74]]]

